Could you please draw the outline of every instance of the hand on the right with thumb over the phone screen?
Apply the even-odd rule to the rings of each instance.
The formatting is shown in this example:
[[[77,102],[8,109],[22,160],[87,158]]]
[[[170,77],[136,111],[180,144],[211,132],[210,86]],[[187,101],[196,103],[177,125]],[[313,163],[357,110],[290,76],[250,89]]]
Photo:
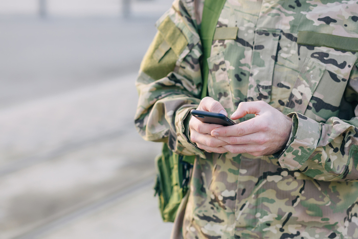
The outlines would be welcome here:
[[[215,128],[211,135],[229,143],[222,147],[234,154],[272,155],[286,145],[292,120],[264,101],[241,102],[232,119],[246,114],[255,118],[232,126]]]

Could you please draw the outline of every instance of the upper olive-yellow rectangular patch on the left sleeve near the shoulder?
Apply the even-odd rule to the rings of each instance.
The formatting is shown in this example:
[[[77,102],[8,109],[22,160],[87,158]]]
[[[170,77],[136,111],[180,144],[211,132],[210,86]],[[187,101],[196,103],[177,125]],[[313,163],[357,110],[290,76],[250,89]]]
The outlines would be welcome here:
[[[158,26],[158,30],[162,33],[164,39],[168,42],[177,56],[179,56],[184,48],[188,46],[187,38],[185,38],[181,30],[175,26],[169,16],[167,16],[161,25]]]

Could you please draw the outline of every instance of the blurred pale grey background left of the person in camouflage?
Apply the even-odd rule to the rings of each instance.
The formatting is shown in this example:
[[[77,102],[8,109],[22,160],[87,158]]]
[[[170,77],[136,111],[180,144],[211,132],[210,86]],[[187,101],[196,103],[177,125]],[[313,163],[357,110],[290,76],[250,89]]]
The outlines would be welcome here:
[[[171,0],[0,0],[0,238],[169,238],[135,80]]]

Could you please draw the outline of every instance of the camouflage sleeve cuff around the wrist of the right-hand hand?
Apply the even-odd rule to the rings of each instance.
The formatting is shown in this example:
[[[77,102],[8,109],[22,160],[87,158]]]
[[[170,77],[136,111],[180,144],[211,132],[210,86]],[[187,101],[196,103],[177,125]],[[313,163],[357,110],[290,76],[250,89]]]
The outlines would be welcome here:
[[[287,116],[293,122],[291,135],[278,160],[281,167],[298,170],[317,148],[322,125],[297,112]]]

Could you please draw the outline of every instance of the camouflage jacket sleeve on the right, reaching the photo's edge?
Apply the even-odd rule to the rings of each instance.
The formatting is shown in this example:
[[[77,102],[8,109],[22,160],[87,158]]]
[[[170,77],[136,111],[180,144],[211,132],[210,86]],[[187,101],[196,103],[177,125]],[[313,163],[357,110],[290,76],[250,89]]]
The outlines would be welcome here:
[[[357,63],[357,62],[356,62]],[[279,162],[322,181],[358,180],[358,68],[353,67],[342,102],[351,107],[350,120],[331,117],[319,123],[291,113],[293,128]]]

